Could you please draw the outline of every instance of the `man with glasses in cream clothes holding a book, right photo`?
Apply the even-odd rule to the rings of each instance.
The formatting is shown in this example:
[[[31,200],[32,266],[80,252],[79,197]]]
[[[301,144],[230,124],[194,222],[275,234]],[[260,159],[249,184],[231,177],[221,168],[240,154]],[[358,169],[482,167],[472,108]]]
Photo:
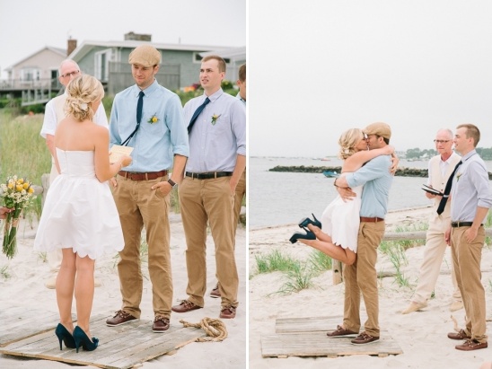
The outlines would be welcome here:
[[[460,155],[452,151],[452,131],[450,129],[439,129],[435,135],[435,155],[429,161],[429,176],[427,186],[444,193],[446,183],[451,176],[454,167],[460,162]],[[443,264],[444,252],[447,245],[444,233],[450,223],[451,206],[450,201],[446,203],[441,215],[437,214],[437,207],[441,202],[441,196],[425,192],[426,198],[433,200],[433,210],[429,218],[429,228],[426,234],[426,249],[424,259],[418,272],[418,285],[409,306],[401,313],[409,314],[417,312],[427,306],[427,300],[431,297],[435,288],[435,282],[439,277],[441,264]],[[450,310],[455,312],[463,307],[461,293],[456,283],[454,268],[451,268],[451,279],[453,286],[452,304]]]

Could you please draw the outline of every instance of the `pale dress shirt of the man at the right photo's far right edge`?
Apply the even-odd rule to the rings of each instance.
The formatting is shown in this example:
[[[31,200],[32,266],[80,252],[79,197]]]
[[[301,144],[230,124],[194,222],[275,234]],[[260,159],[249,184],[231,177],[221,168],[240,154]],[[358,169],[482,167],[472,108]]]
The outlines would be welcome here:
[[[451,189],[451,221],[473,222],[477,206],[492,207],[487,167],[475,150],[461,157]]]

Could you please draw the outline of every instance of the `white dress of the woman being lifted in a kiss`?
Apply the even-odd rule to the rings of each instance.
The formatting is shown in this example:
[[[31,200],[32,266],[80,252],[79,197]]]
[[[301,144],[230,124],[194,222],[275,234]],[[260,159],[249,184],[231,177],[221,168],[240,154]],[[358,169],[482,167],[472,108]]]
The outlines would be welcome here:
[[[342,173],[344,176],[347,173]],[[359,213],[363,186],[352,189],[357,196],[344,202],[339,195],[329,203],[321,215],[322,231],[331,236],[334,244],[357,252],[357,234],[359,233]]]

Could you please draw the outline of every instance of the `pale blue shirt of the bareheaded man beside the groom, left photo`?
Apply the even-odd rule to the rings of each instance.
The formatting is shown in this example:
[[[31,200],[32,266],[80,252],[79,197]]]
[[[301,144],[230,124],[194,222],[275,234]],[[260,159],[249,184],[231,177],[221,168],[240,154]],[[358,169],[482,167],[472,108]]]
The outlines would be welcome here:
[[[185,122],[205,101],[198,96],[184,106]],[[237,155],[246,156],[246,109],[242,101],[219,89],[198,116],[189,134],[186,171],[234,171]],[[218,117],[215,121],[212,117]]]

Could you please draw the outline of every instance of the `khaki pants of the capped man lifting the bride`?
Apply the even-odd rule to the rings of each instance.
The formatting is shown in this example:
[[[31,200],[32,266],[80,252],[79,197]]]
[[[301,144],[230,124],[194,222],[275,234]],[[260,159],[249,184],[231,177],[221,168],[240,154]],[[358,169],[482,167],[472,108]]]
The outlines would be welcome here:
[[[360,295],[364,298],[367,321],[365,332],[379,337],[379,298],[377,287],[377,249],[384,235],[384,222],[359,225],[357,258],[352,265],[344,266],[345,302],[343,325],[358,332],[360,323]]]

